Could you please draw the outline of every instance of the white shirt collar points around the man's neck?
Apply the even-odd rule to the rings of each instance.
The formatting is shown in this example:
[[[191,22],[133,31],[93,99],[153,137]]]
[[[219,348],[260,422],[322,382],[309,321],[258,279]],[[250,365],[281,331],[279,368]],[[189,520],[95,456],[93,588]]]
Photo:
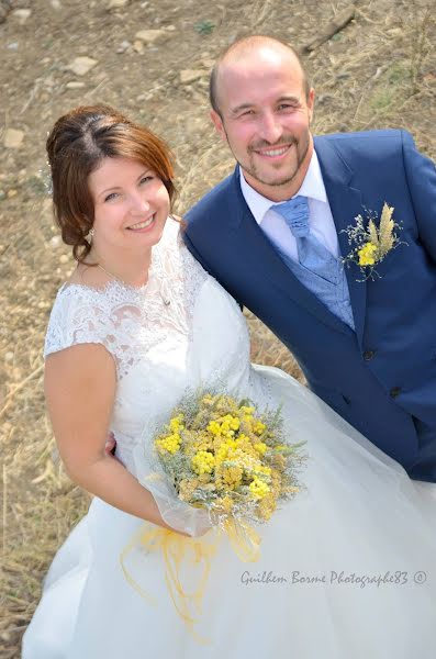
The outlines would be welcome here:
[[[275,205],[275,202],[267,199],[259,192],[257,192],[251,186],[247,183],[239,166],[239,182],[241,190],[244,199],[247,202],[249,210],[251,211],[256,222],[260,224],[264,220],[265,214],[269,209]],[[294,194],[301,194],[310,199],[316,199],[317,201],[327,202],[327,193],[323,181],[323,175],[321,174],[320,160],[315,149],[313,149],[311,161],[303,182],[301,183],[300,190]],[[283,202],[279,202],[283,203]]]

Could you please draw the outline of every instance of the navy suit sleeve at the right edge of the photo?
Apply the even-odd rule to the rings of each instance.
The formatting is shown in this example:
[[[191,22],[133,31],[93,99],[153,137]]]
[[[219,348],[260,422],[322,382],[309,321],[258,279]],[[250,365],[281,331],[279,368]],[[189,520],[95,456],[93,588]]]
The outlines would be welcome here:
[[[424,249],[436,263],[436,167],[402,131],[404,167]]]

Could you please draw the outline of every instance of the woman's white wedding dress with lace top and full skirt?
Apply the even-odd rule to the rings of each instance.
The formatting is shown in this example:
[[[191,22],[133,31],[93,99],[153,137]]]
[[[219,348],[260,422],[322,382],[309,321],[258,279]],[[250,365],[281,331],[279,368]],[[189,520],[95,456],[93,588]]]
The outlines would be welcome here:
[[[52,563],[23,659],[434,659],[433,485],[416,488],[291,377],[249,364],[239,308],[175,222],[153,249],[146,287],[60,289],[45,351],[79,343],[103,344],[115,360],[111,429],[133,473],[138,443],[152,442],[187,388],[224,383],[260,407],[283,404],[290,439],[306,442],[305,487],[258,527],[257,562],[221,539],[195,625],[203,640],[176,611],[161,551],[135,563],[134,582],[154,602],[123,573],[121,554],[145,523],[94,499]],[[188,591],[198,573],[186,563]]]

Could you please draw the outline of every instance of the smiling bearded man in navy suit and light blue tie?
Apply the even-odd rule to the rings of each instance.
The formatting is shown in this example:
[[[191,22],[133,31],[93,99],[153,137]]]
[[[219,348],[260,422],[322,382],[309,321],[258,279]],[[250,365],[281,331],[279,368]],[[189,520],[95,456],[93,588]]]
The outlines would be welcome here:
[[[314,91],[273,38],[224,52],[211,103],[238,165],[188,213],[188,247],[318,396],[412,478],[436,482],[434,164],[404,131],[313,137]],[[358,215],[366,226],[368,210],[378,224],[384,202],[399,245],[366,279],[370,266],[339,260],[355,247],[344,230]]]

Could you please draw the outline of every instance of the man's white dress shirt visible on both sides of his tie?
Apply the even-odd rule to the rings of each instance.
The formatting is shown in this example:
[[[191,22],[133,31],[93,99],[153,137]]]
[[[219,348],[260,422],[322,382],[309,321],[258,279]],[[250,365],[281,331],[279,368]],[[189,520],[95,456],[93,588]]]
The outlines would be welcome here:
[[[279,213],[271,210],[271,206],[277,204],[262,194],[259,194],[259,192],[256,192],[256,190],[247,183],[241,167],[239,181],[244,199],[260,228],[279,250],[294,260],[298,260],[297,243],[292,232],[284,219]],[[315,150],[313,150],[309,169],[301,188],[294,197],[298,194],[308,197],[309,228],[311,234],[314,235],[331,254],[337,257],[339,254],[339,246],[336,227]]]

